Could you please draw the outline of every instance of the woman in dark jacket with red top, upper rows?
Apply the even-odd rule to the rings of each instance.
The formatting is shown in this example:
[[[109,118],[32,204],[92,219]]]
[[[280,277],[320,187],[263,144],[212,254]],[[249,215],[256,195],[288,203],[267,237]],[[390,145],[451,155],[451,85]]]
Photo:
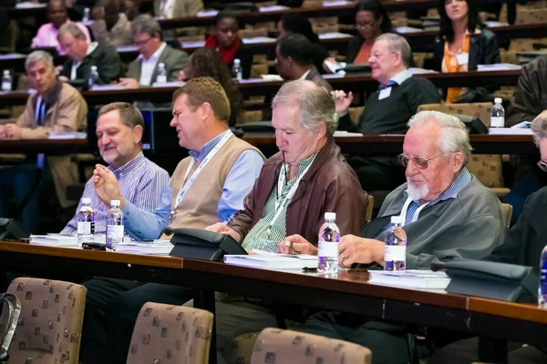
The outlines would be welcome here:
[[[215,24],[216,30],[205,41],[205,47],[216,49],[230,69],[232,69],[234,59],[241,60],[243,78],[249,78],[253,65],[253,51],[243,44],[235,15],[230,11],[222,11],[216,16]]]

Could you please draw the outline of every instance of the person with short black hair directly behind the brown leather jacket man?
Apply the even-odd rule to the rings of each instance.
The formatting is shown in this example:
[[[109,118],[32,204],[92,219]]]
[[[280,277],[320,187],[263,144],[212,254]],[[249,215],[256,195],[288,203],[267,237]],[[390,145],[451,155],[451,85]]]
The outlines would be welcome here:
[[[314,66],[313,45],[301,34],[287,35],[279,41],[275,48],[275,67],[279,76],[285,80],[294,81],[306,79],[333,91]]]

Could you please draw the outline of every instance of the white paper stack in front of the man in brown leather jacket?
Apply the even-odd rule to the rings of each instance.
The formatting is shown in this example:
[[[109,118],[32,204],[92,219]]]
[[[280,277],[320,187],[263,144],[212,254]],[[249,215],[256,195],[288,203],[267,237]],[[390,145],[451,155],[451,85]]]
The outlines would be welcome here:
[[[317,256],[272,254],[272,255],[228,255],[224,263],[234,266],[268,269],[317,268]]]

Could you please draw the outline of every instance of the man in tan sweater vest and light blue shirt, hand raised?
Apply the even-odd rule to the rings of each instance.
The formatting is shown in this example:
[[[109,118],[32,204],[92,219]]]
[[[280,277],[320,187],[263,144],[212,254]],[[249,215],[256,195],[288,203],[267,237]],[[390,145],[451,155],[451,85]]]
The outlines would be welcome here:
[[[120,200],[125,228],[133,236],[158,238],[166,225],[207,227],[230,220],[243,208],[243,199],[260,174],[263,155],[233,136],[229,117],[228,97],[211,77],[194,78],[174,93],[170,126],[176,128],[179,144],[190,150],[191,157],[181,160],[153,213],[126,201],[119,194],[116,177],[105,168],[96,169],[97,186],[104,188],[108,200]],[[155,283],[98,278],[84,285],[88,299],[82,353],[92,362],[106,361],[109,344],[109,362],[126,361],[133,326],[144,303],[181,305],[192,297],[191,289]],[[100,328],[105,332],[98,335]]]

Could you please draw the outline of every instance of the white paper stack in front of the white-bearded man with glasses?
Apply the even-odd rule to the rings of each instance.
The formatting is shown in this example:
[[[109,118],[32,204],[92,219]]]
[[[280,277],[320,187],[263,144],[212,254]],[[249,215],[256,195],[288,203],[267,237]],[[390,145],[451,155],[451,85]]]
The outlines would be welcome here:
[[[445,289],[449,286],[450,278],[443,272],[432,270],[408,269],[400,272],[387,270],[369,270],[369,283],[408,287],[418,289]]]

